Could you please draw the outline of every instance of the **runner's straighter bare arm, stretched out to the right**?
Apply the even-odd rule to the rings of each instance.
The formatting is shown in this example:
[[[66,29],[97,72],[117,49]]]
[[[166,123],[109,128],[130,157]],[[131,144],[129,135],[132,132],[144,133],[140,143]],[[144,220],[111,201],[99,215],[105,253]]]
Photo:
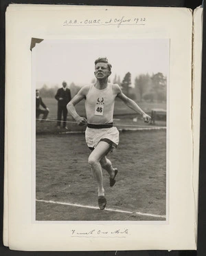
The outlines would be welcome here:
[[[127,105],[130,109],[133,109],[135,112],[142,115],[144,122],[150,122],[150,116],[146,114],[138,105],[135,103],[134,100],[131,100],[128,98],[125,94],[123,94],[122,89],[119,87],[119,85],[115,84],[113,85],[113,92],[117,95],[118,98],[120,98],[125,105]]]

